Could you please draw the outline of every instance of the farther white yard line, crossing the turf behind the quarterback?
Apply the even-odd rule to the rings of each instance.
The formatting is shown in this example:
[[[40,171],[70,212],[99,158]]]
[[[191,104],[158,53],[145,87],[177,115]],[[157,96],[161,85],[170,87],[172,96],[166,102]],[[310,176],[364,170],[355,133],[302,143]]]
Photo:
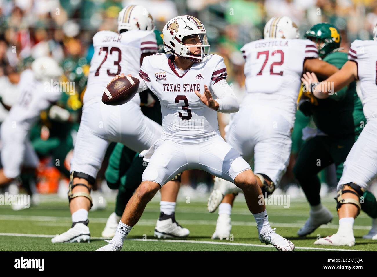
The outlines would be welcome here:
[[[15,221],[34,221],[34,222],[57,222],[56,225],[48,224],[48,226],[61,226],[61,223],[70,223],[70,217],[54,217],[54,216],[16,216],[16,215],[0,215],[0,220],[15,220]],[[157,219],[141,219],[138,222],[138,225],[144,226],[155,226]],[[107,218],[100,217],[91,217],[89,222],[92,223],[106,223]],[[179,220],[181,224],[189,225],[216,225],[216,219],[214,220]],[[273,227],[282,227],[282,228],[301,228],[303,223],[282,223],[282,222],[270,222]],[[43,224],[39,224],[43,225]],[[69,224],[67,224],[68,226]],[[233,226],[256,226],[256,222],[246,222],[246,221],[233,221]],[[337,224],[326,224],[322,225],[319,228],[325,229],[338,229],[339,225]],[[371,226],[363,225],[354,225],[355,230],[370,230]]]

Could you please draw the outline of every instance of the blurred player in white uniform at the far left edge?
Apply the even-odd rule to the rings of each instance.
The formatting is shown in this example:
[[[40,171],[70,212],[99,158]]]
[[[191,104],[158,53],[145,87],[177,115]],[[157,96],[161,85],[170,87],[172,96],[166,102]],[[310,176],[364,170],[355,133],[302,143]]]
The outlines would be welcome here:
[[[28,139],[29,132],[41,111],[48,109],[60,98],[59,88],[51,87],[50,81],[58,81],[62,74],[61,67],[50,57],[37,58],[31,69],[21,73],[18,101],[12,106],[0,129],[3,165],[0,185],[15,179],[23,168],[37,168],[38,157]]]

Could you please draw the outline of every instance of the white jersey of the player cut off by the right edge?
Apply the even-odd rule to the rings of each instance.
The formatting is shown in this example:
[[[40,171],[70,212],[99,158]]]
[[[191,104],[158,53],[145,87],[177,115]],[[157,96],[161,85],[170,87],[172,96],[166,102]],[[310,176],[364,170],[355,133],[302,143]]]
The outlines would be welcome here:
[[[377,41],[355,40],[348,60],[357,64],[364,115],[366,119],[377,118]]]

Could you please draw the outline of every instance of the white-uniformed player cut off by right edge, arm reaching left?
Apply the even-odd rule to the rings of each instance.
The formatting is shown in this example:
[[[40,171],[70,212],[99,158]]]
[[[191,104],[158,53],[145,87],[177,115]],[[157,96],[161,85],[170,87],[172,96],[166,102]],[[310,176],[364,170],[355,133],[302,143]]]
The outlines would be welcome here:
[[[367,120],[363,132],[352,146],[344,162],[342,178],[337,186],[339,229],[336,234],[316,240],[317,245],[355,245],[354,219],[359,215],[360,197],[377,176],[377,25],[373,40],[355,40],[348,52],[348,61],[342,69],[313,88],[313,94],[323,99],[329,88],[337,91],[352,81],[360,81],[361,100]],[[302,81],[318,83],[314,73],[307,72]]]

